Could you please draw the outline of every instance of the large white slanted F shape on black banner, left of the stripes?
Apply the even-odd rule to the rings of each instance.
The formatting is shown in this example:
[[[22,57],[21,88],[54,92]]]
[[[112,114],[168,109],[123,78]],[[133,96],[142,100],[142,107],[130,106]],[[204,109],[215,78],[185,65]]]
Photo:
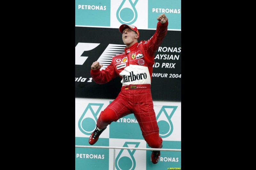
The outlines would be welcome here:
[[[75,63],[76,65],[83,65],[85,60],[88,58],[88,56],[81,56],[84,51],[90,51],[94,48],[96,48],[98,45],[100,45],[99,43],[83,43],[83,42],[79,42],[76,45],[76,59],[75,59]]]

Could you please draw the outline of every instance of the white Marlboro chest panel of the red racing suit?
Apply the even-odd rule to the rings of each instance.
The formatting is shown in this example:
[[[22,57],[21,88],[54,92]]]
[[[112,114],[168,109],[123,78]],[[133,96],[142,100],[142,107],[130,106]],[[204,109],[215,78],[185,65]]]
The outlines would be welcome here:
[[[132,65],[125,67],[119,73],[122,76],[121,83],[124,85],[151,84],[148,67],[141,65]]]

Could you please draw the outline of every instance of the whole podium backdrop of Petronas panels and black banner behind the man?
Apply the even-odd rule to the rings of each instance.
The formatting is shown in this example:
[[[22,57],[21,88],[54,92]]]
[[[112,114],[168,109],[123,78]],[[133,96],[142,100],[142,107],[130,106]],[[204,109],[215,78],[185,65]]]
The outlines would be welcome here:
[[[92,81],[94,61],[105,69],[125,45],[118,28],[134,25],[140,40],[155,33],[157,17],[168,18],[167,35],[157,49],[151,91],[163,149],[181,150],[181,0],[75,0],[75,144],[88,143],[100,112],[121,89],[121,78]],[[188,57],[188,56],[187,56]],[[131,113],[112,122],[93,146],[149,148]],[[115,156],[114,156],[115,153]],[[75,147],[76,170],[181,169],[181,151],[161,151],[153,164],[150,150]]]

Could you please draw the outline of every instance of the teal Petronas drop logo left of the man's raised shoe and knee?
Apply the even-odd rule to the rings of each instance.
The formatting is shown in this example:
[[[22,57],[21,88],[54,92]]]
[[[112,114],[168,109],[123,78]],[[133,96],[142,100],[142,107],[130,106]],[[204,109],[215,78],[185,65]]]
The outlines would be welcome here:
[[[103,103],[89,103],[85,108],[84,113],[78,121],[78,128],[85,135],[91,135],[92,131],[96,128],[97,115],[103,107]]]

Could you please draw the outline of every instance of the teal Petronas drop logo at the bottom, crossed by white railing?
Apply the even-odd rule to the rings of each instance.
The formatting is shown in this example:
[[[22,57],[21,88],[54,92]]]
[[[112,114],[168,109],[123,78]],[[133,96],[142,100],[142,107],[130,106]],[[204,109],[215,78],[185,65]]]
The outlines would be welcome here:
[[[133,148],[138,148],[140,142],[125,142],[123,147],[128,147],[128,144],[135,145]],[[134,152],[136,152],[136,149],[134,149],[133,151],[131,151],[130,149],[121,149],[115,160],[116,169],[134,170],[136,167],[136,162],[133,156]]]

